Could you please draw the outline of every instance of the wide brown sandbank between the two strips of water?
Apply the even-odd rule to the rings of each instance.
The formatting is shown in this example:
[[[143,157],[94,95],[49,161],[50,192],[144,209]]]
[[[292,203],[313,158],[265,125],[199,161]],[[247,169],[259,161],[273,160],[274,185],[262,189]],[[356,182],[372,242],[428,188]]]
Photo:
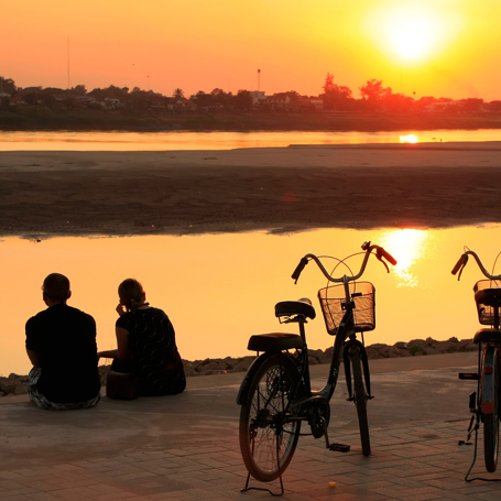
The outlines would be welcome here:
[[[501,143],[0,152],[0,235],[501,222]]]

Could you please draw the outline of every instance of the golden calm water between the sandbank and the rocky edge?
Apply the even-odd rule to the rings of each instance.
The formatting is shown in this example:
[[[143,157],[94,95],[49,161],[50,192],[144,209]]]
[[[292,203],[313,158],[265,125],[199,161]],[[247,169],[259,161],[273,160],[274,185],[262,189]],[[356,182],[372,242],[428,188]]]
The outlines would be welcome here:
[[[250,335],[294,331],[279,325],[273,307],[279,301],[305,296],[319,315],[307,326],[308,345],[325,349],[334,338],[325,330],[316,293],[326,281],[314,263],[306,266],[297,285],[291,273],[308,252],[345,258],[366,240],[382,244],[399,260],[388,274],[372,259],[363,276],[377,288],[377,328],[366,335],[369,345],[428,336],[471,338],[479,328],[472,286],[481,275],[472,260],[460,282],[450,270],[465,244],[490,270],[500,237],[501,226],[291,236],[54,238],[39,243],[7,238],[0,240],[0,374],[29,371],[24,324],[45,307],[40,286],[55,271],[72,281],[69,304],[95,316],[100,350],[116,346],[117,286],[129,276],[140,280],[148,301],[171,316],[186,359],[250,355]],[[359,265],[357,260],[351,264],[353,270]]]

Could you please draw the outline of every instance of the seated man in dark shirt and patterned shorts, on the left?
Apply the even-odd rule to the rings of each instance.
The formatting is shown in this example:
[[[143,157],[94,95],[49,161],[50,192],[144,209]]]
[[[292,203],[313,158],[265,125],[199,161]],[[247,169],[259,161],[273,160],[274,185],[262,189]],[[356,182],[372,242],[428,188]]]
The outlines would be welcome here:
[[[26,322],[26,351],[33,363],[30,399],[41,409],[91,407],[100,399],[96,322],[66,304],[69,281],[51,273],[43,283],[48,306]]]

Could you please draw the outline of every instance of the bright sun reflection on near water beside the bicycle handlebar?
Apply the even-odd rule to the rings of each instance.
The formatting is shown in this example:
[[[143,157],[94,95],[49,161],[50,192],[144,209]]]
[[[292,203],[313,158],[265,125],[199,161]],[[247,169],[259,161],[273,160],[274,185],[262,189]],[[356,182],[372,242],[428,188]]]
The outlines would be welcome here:
[[[417,287],[418,277],[413,273],[413,265],[426,258],[431,243],[426,230],[406,228],[383,233],[383,247],[396,259],[393,272],[400,277],[400,287]]]

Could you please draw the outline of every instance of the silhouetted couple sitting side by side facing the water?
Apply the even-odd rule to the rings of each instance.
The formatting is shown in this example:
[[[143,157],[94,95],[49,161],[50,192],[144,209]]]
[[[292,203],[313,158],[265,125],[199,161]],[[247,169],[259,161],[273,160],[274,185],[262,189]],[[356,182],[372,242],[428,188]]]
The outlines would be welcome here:
[[[119,286],[116,350],[97,351],[96,322],[68,306],[69,281],[51,273],[42,285],[47,308],[26,322],[26,351],[33,363],[30,399],[42,409],[95,406],[100,400],[99,357],[115,358],[116,370],[138,378],[140,395],[181,393],[186,386],[174,328],[162,309],[145,302],[141,284]]]

